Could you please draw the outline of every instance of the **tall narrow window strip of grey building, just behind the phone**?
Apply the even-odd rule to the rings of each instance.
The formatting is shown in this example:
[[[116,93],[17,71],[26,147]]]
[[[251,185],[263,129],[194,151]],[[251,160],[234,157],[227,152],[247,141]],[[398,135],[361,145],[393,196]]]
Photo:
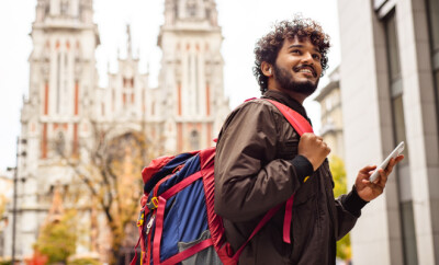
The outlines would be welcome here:
[[[399,49],[396,31],[395,10],[389,12],[384,18],[384,30],[386,36],[389,81],[391,89],[391,104],[393,114],[393,131],[394,145],[405,141],[404,150],[405,159],[396,169],[398,200],[399,200],[399,218],[402,223],[402,238],[404,247],[404,264],[415,265],[417,263],[417,246],[415,237],[413,196],[409,186],[409,159],[407,155],[407,141],[404,122],[404,102],[403,102],[403,84],[401,78]]]

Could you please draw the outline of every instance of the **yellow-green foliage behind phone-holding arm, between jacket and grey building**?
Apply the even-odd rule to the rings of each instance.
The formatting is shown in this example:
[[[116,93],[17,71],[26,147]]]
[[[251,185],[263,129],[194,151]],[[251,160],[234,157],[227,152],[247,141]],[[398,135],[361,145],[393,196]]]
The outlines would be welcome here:
[[[348,187],[344,161],[340,158],[333,155],[330,158],[329,169],[333,173],[333,178],[335,183],[334,196],[338,197],[342,194],[346,194]],[[351,255],[350,237],[348,233],[337,242],[337,256],[346,261],[350,260]]]

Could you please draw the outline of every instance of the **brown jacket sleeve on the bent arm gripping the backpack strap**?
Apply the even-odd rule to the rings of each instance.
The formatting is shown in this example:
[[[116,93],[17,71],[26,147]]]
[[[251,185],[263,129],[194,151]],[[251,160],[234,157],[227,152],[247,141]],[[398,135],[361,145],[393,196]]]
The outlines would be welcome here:
[[[219,216],[251,220],[300,187],[291,161],[275,158],[280,118],[268,105],[254,102],[227,118],[215,157],[215,211]]]

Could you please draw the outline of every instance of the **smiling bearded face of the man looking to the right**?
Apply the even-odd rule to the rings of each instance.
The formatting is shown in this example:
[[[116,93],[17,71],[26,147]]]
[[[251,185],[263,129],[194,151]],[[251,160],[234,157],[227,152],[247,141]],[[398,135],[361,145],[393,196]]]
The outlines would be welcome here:
[[[297,100],[303,102],[317,89],[322,74],[320,59],[320,53],[309,39],[285,39],[273,65],[269,89],[299,96]]]

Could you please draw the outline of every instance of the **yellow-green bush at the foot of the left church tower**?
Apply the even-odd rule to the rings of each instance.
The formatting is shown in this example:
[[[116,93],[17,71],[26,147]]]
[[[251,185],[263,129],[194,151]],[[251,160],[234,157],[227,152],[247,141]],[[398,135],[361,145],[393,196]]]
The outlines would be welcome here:
[[[48,263],[66,263],[76,250],[75,210],[66,212],[59,221],[44,224],[35,243],[36,251],[48,257]]]

